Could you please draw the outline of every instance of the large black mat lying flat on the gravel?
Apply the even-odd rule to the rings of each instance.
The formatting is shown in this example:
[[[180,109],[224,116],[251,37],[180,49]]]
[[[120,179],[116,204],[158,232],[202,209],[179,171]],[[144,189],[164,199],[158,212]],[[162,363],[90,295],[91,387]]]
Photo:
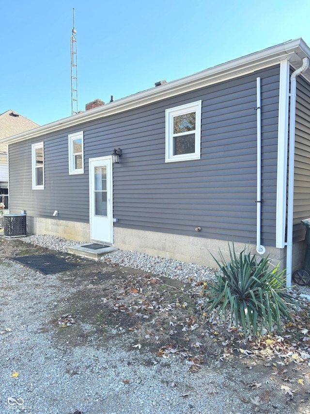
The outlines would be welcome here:
[[[32,256],[10,257],[10,259],[31,269],[38,270],[44,275],[93,264],[90,260],[79,260],[71,257],[70,259],[66,259],[64,257],[57,257],[55,254],[37,254]]]

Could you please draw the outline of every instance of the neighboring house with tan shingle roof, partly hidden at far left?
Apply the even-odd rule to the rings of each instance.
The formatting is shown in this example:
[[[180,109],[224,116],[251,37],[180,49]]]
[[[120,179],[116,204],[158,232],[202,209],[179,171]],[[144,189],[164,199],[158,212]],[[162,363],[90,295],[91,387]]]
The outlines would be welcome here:
[[[0,115],[0,202],[4,196],[6,208],[8,207],[8,146],[3,143],[3,139],[38,126],[39,124],[11,109]]]

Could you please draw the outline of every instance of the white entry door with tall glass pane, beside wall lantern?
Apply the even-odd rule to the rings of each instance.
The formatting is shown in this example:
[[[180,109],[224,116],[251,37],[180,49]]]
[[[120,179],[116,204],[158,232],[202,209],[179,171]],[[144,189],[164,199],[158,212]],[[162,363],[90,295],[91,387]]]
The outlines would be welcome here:
[[[91,239],[113,243],[112,160],[90,158]]]

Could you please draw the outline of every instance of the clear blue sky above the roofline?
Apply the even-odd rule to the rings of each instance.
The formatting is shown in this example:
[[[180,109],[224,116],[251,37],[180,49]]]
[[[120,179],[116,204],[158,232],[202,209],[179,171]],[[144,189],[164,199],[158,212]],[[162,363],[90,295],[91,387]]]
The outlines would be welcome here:
[[[15,0],[0,5],[0,114],[71,115],[72,8],[78,110],[303,37],[309,0]]]

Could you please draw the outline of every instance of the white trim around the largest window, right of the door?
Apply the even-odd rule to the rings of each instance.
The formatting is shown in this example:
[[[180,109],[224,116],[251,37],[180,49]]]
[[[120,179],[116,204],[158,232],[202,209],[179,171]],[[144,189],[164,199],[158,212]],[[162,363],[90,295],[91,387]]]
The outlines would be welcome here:
[[[195,152],[173,155],[173,116],[196,112]],[[186,103],[175,108],[166,109],[166,153],[165,162],[200,160],[202,101]],[[188,132],[187,132],[188,133]]]

